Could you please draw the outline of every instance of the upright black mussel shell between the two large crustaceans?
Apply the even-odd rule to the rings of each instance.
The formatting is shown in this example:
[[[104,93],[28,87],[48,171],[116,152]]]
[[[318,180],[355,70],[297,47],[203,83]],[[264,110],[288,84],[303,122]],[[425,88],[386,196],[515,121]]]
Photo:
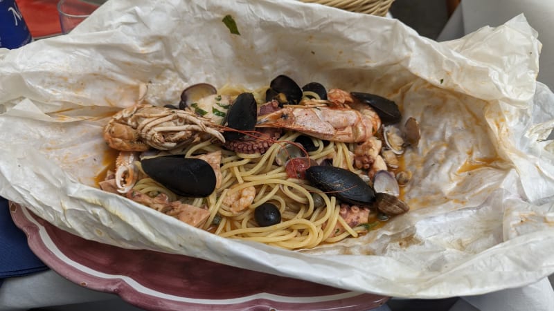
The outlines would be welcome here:
[[[235,99],[225,115],[223,125],[238,131],[253,131],[258,117],[258,106],[252,93],[242,93]],[[244,133],[224,131],[225,140],[238,140]]]

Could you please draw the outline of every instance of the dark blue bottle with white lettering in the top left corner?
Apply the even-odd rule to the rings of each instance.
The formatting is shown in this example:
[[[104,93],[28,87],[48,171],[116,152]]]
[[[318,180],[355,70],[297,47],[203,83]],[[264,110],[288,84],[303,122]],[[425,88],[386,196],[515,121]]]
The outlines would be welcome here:
[[[15,0],[0,0],[0,48],[19,48],[33,41]]]

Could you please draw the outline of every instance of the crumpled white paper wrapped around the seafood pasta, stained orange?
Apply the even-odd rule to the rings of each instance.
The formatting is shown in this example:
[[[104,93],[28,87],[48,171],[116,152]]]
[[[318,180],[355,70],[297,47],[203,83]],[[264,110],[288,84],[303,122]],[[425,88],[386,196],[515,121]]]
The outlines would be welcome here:
[[[299,1],[108,1],[70,35],[0,50],[0,195],[102,243],[348,290],[438,298],[526,285],[554,272],[554,95],[536,82],[540,48],[522,15],[439,44],[394,19]],[[292,252],[95,186],[111,113],[175,104],[198,82],[256,88],[279,74],[383,95],[420,122],[409,213]]]

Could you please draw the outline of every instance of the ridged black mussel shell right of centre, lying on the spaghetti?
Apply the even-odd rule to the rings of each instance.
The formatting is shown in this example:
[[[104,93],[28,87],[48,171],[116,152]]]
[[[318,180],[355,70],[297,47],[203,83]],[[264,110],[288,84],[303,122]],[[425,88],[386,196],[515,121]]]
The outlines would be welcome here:
[[[306,179],[342,202],[370,206],[375,201],[375,190],[372,187],[357,174],[340,167],[310,167],[306,170]]]

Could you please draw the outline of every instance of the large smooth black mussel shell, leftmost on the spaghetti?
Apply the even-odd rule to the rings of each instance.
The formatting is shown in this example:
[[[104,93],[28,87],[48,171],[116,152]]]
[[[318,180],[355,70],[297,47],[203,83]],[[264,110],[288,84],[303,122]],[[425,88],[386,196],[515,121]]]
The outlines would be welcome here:
[[[215,189],[215,172],[196,158],[158,157],[141,161],[143,171],[178,196],[203,198]]]

